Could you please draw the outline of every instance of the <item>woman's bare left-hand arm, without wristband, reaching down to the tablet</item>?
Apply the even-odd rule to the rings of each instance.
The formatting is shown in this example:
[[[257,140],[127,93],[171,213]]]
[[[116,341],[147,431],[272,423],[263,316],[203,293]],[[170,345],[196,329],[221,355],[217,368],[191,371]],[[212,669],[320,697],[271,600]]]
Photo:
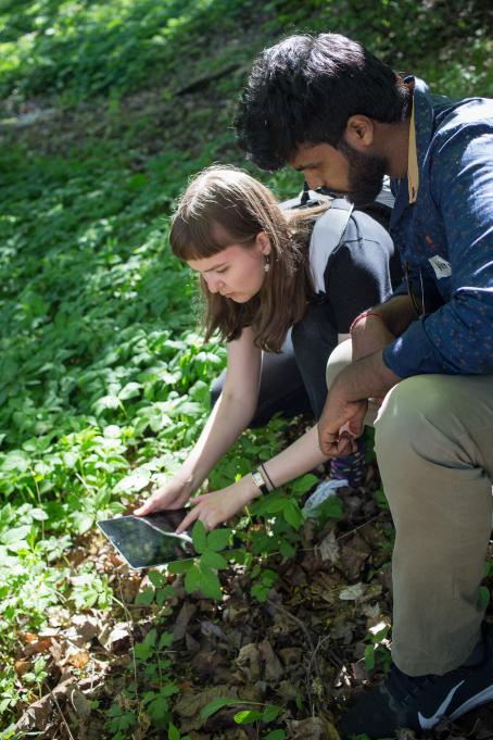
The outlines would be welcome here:
[[[255,412],[262,352],[253,343],[253,333],[228,343],[224,390],[202,432],[181,468],[146,503],[135,511],[141,516],[162,509],[179,509],[203,482],[217,461],[246,428]]]

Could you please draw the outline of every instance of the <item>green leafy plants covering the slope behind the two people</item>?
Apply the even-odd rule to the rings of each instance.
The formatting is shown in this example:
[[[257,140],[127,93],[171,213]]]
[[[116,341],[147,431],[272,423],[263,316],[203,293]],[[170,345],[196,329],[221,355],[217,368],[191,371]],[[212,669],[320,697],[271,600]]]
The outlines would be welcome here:
[[[46,690],[43,659],[22,679],[14,670],[21,632],[42,627],[50,607],[113,603],[108,577],[90,564],[76,574],[64,553],[94,518],[121,511],[123,496],[173,471],[206,413],[224,351],[194,333],[194,289],[169,255],[167,217],[192,173],[242,164],[231,118],[255,53],[293,30],[338,30],[434,91],[491,96],[489,5],[0,2],[5,727]],[[294,174],[256,174],[281,197],[300,187]],[[248,471],[283,429],[243,440],[213,484]],[[115,727],[108,737],[131,737]]]

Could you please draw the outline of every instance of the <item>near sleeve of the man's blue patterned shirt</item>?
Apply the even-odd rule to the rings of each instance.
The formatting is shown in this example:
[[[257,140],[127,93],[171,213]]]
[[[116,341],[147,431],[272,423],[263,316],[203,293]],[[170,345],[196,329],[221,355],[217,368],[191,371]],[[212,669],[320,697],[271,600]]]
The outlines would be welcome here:
[[[445,228],[451,294],[389,344],[400,377],[493,373],[493,124],[463,125],[433,151],[430,187]]]

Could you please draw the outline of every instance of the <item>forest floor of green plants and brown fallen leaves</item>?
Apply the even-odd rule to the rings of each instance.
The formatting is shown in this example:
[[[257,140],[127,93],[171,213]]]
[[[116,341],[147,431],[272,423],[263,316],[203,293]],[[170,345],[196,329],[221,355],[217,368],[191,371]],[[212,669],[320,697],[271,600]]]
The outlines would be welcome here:
[[[365,486],[317,518],[303,504],[324,469],[231,524],[242,552],[205,540],[217,567],[130,570],[94,522],[176,469],[224,366],[167,220],[192,173],[244,164],[231,120],[255,53],[343,29],[438,91],[491,93],[486,9],[21,4],[0,15],[0,738],[337,740],[390,662],[394,531],[371,453]],[[246,166],[280,198],[300,188]],[[210,486],[308,423],[245,432]],[[484,603],[492,586],[490,552]],[[493,706],[429,737],[492,738]]]

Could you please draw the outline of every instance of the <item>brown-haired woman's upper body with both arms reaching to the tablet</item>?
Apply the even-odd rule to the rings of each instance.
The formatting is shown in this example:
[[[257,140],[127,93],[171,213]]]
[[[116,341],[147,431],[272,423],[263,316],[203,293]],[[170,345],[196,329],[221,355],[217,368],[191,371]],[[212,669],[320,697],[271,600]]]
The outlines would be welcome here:
[[[286,349],[294,358],[314,415],[325,402],[325,367],[351,322],[392,292],[399,273],[392,240],[366,213],[349,211],[343,239],[324,256],[330,202],[283,211],[268,188],[246,173],[213,166],[200,173],[178,204],[170,229],[174,253],[199,274],[206,302],[206,339],[227,341],[223,391],[177,475],[135,513],[179,509],[255,415],[263,364]],[[320,265],[320,259],[323,264]],[[282,386],[282,377],[278,385]],[[346,439],[346,452],[357,443]],[[361,456],[361,451],[359,451]],[[212,529],[271,490],[327,461],[313,427],[257,471],[227,488],[198,496],[178,530],[201,519]]]

